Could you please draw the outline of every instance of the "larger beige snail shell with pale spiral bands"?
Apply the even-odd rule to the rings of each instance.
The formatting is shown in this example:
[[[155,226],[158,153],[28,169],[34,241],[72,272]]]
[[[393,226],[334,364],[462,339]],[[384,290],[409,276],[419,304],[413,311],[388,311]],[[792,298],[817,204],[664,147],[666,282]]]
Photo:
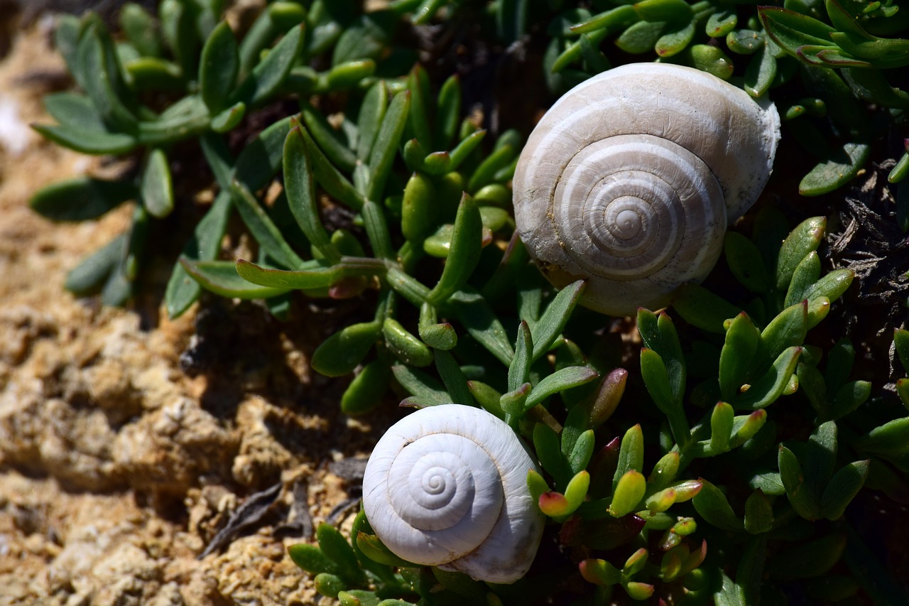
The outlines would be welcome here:
[[[543,116],[514,172],[517,230],[557,287],[612,315],[703,280],[754,204],[780,118],[744,90],[669,64],[616,67]]]

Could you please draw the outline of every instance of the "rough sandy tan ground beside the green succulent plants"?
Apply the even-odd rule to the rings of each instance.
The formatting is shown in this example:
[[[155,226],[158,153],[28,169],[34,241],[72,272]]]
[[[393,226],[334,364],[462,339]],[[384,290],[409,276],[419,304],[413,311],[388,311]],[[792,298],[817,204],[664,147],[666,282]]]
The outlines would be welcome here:
[[[65,83],[49,32],[45,19],[17,33],[0,60],[0,605],[317,603],[286,547],[356,495],[328,464],[367,455],[395,416],[345,418],[343,381],[308,369],[354,304],[301,302],[279,324],[213,298],[168,321],[154,268],[132,309],[66,293],[130,208],[53,224],[27,207],[45,184],[118,169],[25,126],[50,121],[40,97]],[[270,487],[258,521],[196,559]]]

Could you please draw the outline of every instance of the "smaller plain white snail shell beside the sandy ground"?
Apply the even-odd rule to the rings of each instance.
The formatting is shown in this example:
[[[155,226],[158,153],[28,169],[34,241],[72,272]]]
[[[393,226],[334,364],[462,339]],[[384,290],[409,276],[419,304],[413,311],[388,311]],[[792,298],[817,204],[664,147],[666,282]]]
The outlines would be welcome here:
[[[514,582],[543,535],[527,488],[532,469],[514,430],[485,410],[420,409],[388,429],[366,463],[366,519],[407,561]]]

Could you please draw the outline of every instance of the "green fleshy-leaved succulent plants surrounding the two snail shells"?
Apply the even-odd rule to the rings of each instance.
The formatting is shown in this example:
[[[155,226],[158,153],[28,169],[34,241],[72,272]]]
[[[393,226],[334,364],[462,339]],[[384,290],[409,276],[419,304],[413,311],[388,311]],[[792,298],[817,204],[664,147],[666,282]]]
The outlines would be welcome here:
[[[107,304],[130,298],[152,223],[184,203],[173,160],[197,146],[217,193],[175,261],[170,315],[203,289],[265,299],[277,318],[294,297],[359,298],[367,316],[311,359],[327,376],[355,375],[345,413],[393,391],[405,406],[480,406],[524,436],[542,470],[527,487],[549,520],[524,580],[490,585],[402,561],[361,513],[350,542],[322,525],[317,546],[290,549],[317,591],[343,604],[609,603],[623,592],[776,603],[790,581],[817,600],[864,591],[899,602],[902,590],[872,571],[880,554],[849,508],[868,490],[909,500],[909,417],[854,369],[850,339],[824,326],[854,278],[826,262],[826,219],[790,229],[765,206],[750,237],[725,237],[722,271],[735,284],[708,279],[682,288],[668,312],[639,310],[640,341],[624,344],[611,320],[576,307],[582,281],[555,293],[514,237],[509,181],[523,134],[464,118],[461,78],[419,65],[400,30],[476,16],[499,45],[545,32],[554,90],[621,59],[607,40],[740,81],[777,103],[789,141],[822,156],[802,181],[813,195],[844,185],[874,138],[902,124],[904,94],[887,78],[904,65],[894,36],[905,11],[849,0],[584,6],[272,2],[243,35],[214,0],[164,0],[156,17],[127,4],[115,34],[93,15],[62,19],[56,44],[82,92],[48,96],[57,124],[35,128],[135,161],[125,177],[80,177],[32,199],[65,221],[135,200],[131,226],[67,288],[100,290]],[[873,115],[869,102],[890,111]],[[286,111],[254,128],[269,106]],[[229,138],[237,132],[241,146]],[[904,156],[891,179],[906,167]],[[338,225],[337,214],[349,220]],[[232,217],[252,258],[223,254]],[[904,328],[892,358],[909,369]],[[909,409],[909,379],[893,389]]]

